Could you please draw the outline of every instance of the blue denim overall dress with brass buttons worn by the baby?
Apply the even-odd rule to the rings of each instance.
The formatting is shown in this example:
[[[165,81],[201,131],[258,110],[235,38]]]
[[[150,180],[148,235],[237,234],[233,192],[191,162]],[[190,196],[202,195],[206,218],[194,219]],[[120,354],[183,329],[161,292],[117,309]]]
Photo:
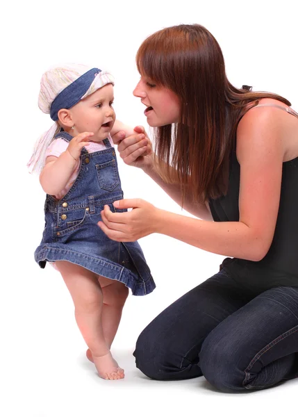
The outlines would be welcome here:
[[[72,140],[67,132],[56,138]],[[115,242],[97,226],[101,210],[123,199],[115,150],[105,139],[106,149],[92,152],[83,148],[81,167],[72,188],[60,200],[47,195],[42,241],[35,261],[44,268],[47,261],[68,261],[95,274],[116,279],[131,288],[133,295],[151,293],[155,283],[138,242]]]

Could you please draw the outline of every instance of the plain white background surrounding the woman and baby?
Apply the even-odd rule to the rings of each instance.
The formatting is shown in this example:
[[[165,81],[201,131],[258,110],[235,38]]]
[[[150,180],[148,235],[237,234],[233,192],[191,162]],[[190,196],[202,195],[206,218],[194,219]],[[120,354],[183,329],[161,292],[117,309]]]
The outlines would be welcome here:
[[[231,83],[279,93],[297,110],[295,3],[28,0],[2,6],[1,416],[278,416],[295,407],[297,381],[231,395],[213,390],[204,377],[155,382],[135,368],[133,347],[145,325],[217,272],[222,260],[166,236],[140,240],[157,288],[146,297],[130,296],[124,308],[113,353],[126,377],[117,382],[97,377],[85,359],[62,279],[33,259],[44,224],[44,193],[26,170],[36,138],[51,126],[37,106],[40,77],[48,67],[77,62],[110,70],[117,117],[148,128],[144,106],[132,95],[139,78],[135,53],[148,35],[174,24],[206,26],[222,47]],[[181,213],[140,170],[122,161],[119,170],[125,197]]]

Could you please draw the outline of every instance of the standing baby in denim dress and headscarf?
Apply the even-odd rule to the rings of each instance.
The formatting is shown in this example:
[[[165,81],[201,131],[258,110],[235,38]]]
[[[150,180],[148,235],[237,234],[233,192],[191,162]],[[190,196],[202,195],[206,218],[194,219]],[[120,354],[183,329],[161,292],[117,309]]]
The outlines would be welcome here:
[[[28,163],[47,193],[45,227],[35,250],[41,268],[55,263],[74,302],[87,356],[104,379],[121,379],[112,357],[129,293],[145,295],[155,284],[138,242],[110,240],[97,226],[101,211],[123,198],[111,136],[132,129],[115,121],[114,79],[85,65],[55,67],[42,76],[39,107],[54,126]],[[122,210],[123,211],[123,210]]]

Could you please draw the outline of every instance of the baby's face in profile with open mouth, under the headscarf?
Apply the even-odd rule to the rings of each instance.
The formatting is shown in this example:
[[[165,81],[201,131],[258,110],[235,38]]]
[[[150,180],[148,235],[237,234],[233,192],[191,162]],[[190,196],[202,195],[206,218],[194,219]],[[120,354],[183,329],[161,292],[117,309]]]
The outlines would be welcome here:
[[[106,84],[71,108],[72,120],[78,133],[93,132],[93,142],[106,139],[115,123],[114,90]]]

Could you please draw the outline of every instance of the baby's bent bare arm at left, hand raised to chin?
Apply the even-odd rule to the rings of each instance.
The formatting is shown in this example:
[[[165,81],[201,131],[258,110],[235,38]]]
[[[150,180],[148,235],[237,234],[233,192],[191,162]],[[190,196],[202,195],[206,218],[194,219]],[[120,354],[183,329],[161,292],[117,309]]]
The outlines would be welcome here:
[[[65,152],[60,156],[48,156],[40,174],[43,190],[49,195],[58,195],[67,185],[78,166],[81,149],[88,145],[88,138],[94,133],[84,132],[72,138]]]

